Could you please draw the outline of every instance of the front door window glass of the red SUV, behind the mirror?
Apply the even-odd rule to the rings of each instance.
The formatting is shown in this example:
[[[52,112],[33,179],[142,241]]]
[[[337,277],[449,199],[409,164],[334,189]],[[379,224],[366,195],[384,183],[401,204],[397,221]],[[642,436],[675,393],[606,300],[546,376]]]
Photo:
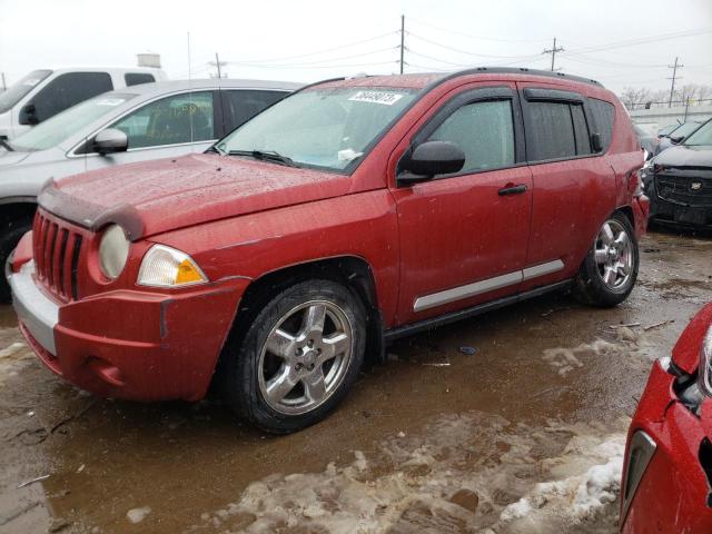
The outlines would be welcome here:
[[[451,141],[465,152],[459,174],[514,165],[514,122],[511,100],[468,103],[437,127],[428,140]]]

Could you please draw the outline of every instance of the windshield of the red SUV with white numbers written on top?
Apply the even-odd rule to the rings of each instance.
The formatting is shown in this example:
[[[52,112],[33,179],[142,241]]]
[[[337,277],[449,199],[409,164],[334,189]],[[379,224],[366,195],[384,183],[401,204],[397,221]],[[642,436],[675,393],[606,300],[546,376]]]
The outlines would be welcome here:
[[[297,166],[343,170],[415,98],[411,89],[310,89],[281,100],[217,144],[229,154],[269,152]]]

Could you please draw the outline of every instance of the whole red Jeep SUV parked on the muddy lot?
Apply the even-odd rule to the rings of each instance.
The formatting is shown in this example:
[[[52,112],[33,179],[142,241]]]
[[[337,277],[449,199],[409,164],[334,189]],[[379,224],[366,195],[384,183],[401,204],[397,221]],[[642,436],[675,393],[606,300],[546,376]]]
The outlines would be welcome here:
[[[597,82],[527,69],[329,80],[208,152],[48,185],[9,261],[42,362],[100,395],[323,418],[365,354],[547,290],[630,294],[643,152]]]

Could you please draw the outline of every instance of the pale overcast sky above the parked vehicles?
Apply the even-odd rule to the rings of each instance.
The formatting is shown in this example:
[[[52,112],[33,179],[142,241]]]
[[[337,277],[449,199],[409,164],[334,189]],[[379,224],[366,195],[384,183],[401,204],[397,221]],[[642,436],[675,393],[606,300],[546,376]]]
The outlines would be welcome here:
[[[681,83],[712,85],[712,0],[0,0],[0,71],[12,82],[38,68],[132,66],[152,51],[169,77],[187,78],[190,32],[194,77],[215,71],[215,52],[231,78],[390,73],[400,14],[406,72],[548,69],[542,52],[556,37],[557,68],[616,91],[670,87],[675,56]]]

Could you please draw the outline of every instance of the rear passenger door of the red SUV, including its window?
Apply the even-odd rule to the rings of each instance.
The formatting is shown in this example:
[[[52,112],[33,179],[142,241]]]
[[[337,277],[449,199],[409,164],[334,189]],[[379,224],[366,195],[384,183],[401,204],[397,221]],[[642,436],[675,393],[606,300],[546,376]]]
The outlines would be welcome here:
[[[616,186],[605,156],[593,152],[587,99],[561,86],[518,87],[534,186],[526,290],[575,275],[615,207]]]

